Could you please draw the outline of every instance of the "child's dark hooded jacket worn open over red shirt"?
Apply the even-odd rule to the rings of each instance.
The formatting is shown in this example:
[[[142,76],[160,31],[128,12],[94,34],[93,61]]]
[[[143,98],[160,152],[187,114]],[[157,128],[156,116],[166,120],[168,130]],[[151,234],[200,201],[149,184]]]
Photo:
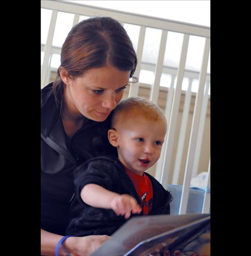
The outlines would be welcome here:
[[[149,215],[170,214],[172,195],[150,174],[147,175],[153,186],[153,207]],[[70,224],[66,235],[112,235],[127,220],[124,216],[117,216],[111,209],[91,207],[81,199],[80,193],[83,186],[92,183],[109,191],[119,194],[129,194],[140,205],[140,197],[129,176],[126,174],[122,163],[117,157],[95,157],[81,164],[74,171],[75,197],[72,201]],[[139,216],[133,214],[132,216]]]

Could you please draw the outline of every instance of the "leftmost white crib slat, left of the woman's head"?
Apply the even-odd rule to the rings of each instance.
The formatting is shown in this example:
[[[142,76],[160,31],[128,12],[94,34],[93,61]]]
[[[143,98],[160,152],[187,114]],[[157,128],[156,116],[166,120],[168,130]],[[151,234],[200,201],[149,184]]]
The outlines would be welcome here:
[[[52,46],[54,30],[56,27],[57,15],[58,15],[58,11],[53,10],[51,14],[51,22],[50,22],[50,27],[48,31],[48,36],[47,36],[46,44],[44,47],[44,59],[43,59],[43,65],[42,65],[42,71],[41,71],[41,87],[42,88],[46,85],[46,76],[47,76],[47,71],[50,64],[51,46]]]

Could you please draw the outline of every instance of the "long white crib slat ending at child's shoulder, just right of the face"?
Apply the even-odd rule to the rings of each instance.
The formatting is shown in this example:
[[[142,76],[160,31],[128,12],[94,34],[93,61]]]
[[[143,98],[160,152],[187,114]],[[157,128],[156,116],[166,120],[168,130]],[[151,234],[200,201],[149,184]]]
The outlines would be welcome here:
[[[164,187],[166,187],[168,184],[168,175],[170,171],[172,147],[174,144],[174,136],[176,131],[178,111],[179,111],[179,101],[181,99],[181,88],[182,88],[182,81],[183,81],[184,71],[185,71],[188,43],[189,43],[189,35],[184,34],[181,58],[179,60],[176,88],[174,93],[174,101],[172,102],[170,122],[169,122],[168,132],[167,132],[167,143],[166,143],[166,147],[164,148],[164,161],[163,161],[163,167],[162,167],[161,178],[160,178],[160,182]]]

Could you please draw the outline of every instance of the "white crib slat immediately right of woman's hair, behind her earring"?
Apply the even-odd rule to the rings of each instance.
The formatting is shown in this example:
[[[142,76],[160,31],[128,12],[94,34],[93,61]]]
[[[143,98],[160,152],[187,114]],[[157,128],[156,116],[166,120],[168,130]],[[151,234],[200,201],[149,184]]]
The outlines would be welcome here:
[[[144,47],[144,41],[145,41],[145,34],[146,34],[146,27],[140,26],[137,51],[136,51],[138,64],[134,72],[134,77],[139,77],[140,65],[141,65],[142,53],[143,53],[143,47]],[[136,84],[130,85],[128,96],[131,97],[131,96],[137,96],[137,95],[138,95],[138,82]]]

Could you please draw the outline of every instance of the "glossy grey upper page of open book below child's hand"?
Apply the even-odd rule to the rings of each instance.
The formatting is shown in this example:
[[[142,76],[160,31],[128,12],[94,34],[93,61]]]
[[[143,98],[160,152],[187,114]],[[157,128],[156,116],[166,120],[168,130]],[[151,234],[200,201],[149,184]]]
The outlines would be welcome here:
[[[191,224],[194,221],[198,221],[208,216],[210,216],[210,214],[152,215],[132,217],[119,230],[117,230],[110,239],[101,245],[97,251],[92,253],[91,256],[127,255],[126,253],[128,253],[131,249],[134,247],[139,247],[139,243],[143,243],[143,241],[154,238],[155,236],[159,236],[163,233],[166,234],[166,232],[171,230],[174,230],[175,232],[183,230],[179,235],[177,235],[178,233],[176,234],[176,236],[180,237],[182,232],[184,234],[185,225]],[[189,230],[191,230],[191,227],[186,231],[188,232]],[[164,239],[169,239],[169,244],[170,242],[175,242],[175,239],[171,237],[171,235],[170,237],[165,237]],[[144,243],[146,244],[146,241]],[[159,243],[159,240],[157,240],[156,243]]]

